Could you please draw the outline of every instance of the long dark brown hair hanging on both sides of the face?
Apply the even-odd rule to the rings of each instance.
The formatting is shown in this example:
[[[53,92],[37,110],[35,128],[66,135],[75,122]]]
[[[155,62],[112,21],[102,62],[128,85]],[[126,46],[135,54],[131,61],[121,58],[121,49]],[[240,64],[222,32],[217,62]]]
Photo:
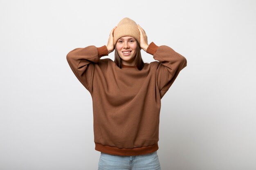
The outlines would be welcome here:
[[[144,62],[141,58],[141,47],[139,46],[139,42],[136,40],[137,42],[137,52],[136,52],[136,56],[135,56],[135,66],[137,66],[137,68],[139,70],[141,70],[144,67]],[[121,61],[121,57],[119,56],[118,52],[117,52],[117,46],[115,46],[115,63],[117,66],[119,66],[119,68],[122,68],[122,61]]]

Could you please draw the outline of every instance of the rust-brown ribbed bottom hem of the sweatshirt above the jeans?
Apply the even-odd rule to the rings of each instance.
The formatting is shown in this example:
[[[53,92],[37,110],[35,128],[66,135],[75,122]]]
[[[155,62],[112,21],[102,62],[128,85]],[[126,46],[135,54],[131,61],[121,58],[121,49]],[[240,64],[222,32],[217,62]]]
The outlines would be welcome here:
[[[112,146],[106,146],[102,144],[95,143],[95,150],[99,152],[104,152],[110,155],[120,155],[120,156],[135,156],[135,155],[144,155],[150,154],[158,150],[158,144],[144,146],[139,148],[117,148]]]

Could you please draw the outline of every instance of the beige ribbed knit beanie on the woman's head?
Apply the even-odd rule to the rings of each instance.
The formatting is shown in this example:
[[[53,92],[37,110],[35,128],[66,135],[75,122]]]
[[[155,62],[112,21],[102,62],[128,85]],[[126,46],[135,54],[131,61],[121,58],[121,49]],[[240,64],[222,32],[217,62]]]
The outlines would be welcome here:
[[[114,31],[114,45],[117,44],[117,40],[124,36],[131,36],[135,38],[140,44],[140,33],[138,26],[134,20],[130,18],[122,19]]]

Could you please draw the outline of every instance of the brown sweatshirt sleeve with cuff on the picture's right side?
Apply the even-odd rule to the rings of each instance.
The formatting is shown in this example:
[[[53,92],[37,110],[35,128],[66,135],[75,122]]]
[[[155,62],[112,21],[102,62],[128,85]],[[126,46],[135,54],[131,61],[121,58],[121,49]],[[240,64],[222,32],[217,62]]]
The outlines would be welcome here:
[[[156,71],[156,83],[162,98],[180,71],[186,67],[186,58],[168,46],[157,46],[153,42],[149,44],[146,52],[160,62]]]

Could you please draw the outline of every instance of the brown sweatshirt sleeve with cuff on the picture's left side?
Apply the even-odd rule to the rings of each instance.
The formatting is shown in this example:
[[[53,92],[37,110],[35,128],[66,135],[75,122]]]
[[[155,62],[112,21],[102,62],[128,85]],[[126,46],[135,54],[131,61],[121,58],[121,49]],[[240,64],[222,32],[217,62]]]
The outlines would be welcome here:
[[[89,92],[92,91],[94,64],[105,55],[108,55],[108,49],[105,45],[99,48],[96,46],[77,48],[67,54],[67,62],[71,70]]]

